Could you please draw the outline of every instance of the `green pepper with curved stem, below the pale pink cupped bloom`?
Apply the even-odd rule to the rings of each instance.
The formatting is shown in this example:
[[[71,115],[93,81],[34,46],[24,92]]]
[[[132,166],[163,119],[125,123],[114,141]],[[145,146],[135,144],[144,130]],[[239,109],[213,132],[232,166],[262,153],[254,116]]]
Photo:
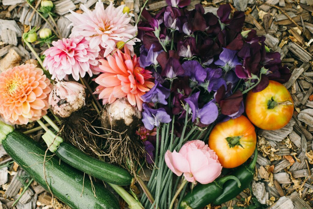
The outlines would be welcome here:
[[[222,193],[223,184],[233,179],[240,187],[240,181],[235,176],[229,175],[219,178],[209,184],[198,184],[182,199],[179,209],[202,208],[213,202]]]

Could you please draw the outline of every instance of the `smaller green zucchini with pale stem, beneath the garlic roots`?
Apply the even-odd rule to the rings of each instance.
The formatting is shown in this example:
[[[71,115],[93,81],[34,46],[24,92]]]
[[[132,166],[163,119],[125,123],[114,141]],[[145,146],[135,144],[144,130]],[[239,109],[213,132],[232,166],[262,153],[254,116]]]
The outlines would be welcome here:
[[[51,152],[54,152],[65,163],[86,174],[105,182],[121,186],[130,185],[133,180],[127,170],[85,154],[72,144],[63,142],[63,139],[57,137],[51,130],[47,130],[42,138],[48,147],[51,144],[49,148]]]

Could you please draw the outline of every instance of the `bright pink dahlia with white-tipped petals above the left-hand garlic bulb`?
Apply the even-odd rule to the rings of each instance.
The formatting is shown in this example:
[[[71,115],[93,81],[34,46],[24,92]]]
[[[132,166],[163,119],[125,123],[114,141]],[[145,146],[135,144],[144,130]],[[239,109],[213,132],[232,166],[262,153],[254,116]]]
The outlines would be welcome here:
[[[86,72],[90,77],[92,73],[97,74],[90,66],[98,64],[96,58],[99,53],[90,49],[89,42],[84,37],[60,39],[53,41],[52,45],[44,51],[44,67],[49,70],[52,79],[62,80],[72,75],[78,81],[79,76],[84,77]]]

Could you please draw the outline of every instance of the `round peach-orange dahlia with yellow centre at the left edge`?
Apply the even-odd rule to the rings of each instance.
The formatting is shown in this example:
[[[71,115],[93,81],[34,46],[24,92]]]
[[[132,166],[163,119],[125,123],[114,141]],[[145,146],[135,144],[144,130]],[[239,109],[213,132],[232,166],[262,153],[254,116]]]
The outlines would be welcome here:
[[[47,114],[52,89],[44,72],[33,64],[19,65],[0,74],[0,115],[13,124],[27,124]]]

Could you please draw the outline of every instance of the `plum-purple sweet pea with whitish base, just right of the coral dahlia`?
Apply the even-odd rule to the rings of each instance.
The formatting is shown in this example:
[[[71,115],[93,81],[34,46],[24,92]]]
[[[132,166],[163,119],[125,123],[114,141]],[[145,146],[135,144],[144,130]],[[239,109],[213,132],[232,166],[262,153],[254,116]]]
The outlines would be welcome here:
[[[177,60],[174,57],[170,57],[167,60],[167,64],[166,64],[164,70],[161,72],[161,76],[166,76],[169,79],[174,79],[177,76],[180,76],[184,73],[185,73],[185,71],[184,71],[182,65],[180,64],[179,60]]]

